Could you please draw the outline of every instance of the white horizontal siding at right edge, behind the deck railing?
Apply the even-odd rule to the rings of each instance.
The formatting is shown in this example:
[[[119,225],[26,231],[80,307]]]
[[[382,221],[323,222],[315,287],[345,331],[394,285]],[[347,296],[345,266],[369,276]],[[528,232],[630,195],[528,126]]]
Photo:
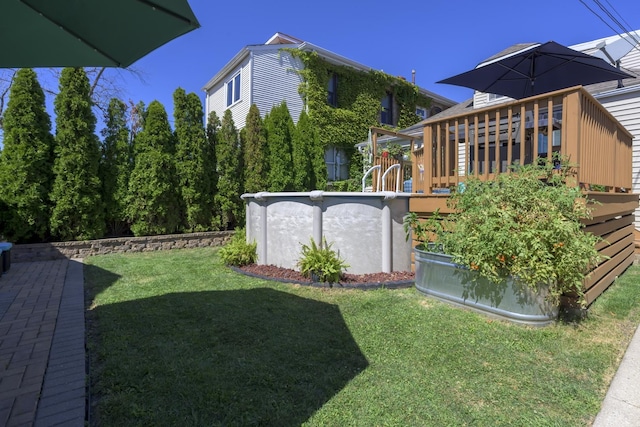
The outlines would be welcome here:
[[[633,135],[632,191],[640,193],[640,88],[596,98]],[[640,229],[640,208],[636,209],[635,225]]]

